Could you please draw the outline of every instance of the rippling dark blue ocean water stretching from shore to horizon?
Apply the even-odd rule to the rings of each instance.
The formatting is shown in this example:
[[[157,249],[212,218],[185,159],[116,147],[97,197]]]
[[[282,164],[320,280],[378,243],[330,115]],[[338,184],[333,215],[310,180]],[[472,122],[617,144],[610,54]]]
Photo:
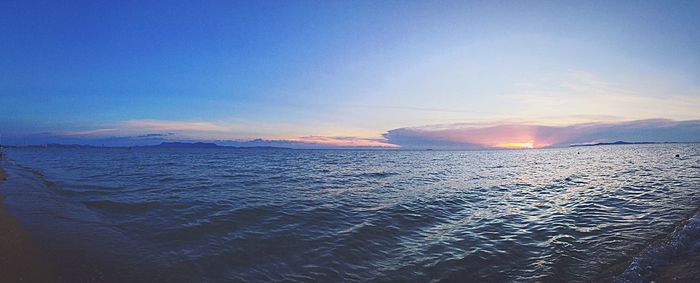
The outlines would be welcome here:
[[[700,248],[699,144],[6,151],[69,281],[641,281]]]

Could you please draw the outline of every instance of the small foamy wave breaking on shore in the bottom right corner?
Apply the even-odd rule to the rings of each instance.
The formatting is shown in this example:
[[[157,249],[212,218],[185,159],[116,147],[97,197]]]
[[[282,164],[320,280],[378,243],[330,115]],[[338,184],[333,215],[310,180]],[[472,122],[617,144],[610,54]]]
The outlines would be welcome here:
[[[700,211],[676,228],[673,233],[659,244],[644,250],[632,260],[625,272],[613,282],[649,281],[655,272],[678,256],[700,250]]]

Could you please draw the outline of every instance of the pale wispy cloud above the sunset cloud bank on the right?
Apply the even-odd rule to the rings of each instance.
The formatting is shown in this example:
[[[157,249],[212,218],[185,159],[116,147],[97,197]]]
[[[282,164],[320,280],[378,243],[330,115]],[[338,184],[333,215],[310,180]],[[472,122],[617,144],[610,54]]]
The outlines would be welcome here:
[[[502,97],[517,105],[511,116],[538,119],[548,116],[614,116],[626,120],[664,117],[697,119],[700,89],[674,87],[663,80],[612,81],[602,76],[571,71],[563,77],[518,86]],[[560,120],[572,122],[571,120]]]

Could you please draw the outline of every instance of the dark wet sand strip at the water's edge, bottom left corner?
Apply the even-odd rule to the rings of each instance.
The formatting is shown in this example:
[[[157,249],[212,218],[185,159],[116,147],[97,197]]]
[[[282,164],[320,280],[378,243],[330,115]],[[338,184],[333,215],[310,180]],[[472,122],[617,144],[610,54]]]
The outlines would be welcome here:
[[[1,164],[0,164],[1,165]],[[0,182],[7,178],[0,166]],[[61,282],[47,256],[7,212],[0,191],[0,282]]]

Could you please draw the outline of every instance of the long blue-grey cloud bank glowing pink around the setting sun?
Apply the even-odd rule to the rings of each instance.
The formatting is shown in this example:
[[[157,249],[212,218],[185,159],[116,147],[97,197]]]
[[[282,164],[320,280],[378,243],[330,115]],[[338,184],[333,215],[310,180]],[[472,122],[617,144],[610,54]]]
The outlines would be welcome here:
[[[401,147],[537,148],[592,141],[700,141],[700,121],[639,120],[568,126],[451,124],[399,128],[384,134]]]

